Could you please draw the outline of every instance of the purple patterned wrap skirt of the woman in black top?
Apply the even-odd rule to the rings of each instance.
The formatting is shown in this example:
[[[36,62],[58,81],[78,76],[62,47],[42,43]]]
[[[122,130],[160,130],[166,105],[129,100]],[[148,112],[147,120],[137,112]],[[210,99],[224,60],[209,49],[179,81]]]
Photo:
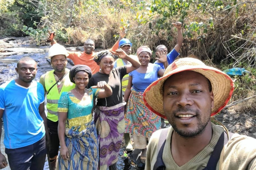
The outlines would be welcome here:
[[[100,147],[100,170],[106,170],[118,160],[125,129],[125,104],[120,103],[112,107],[97,106],[95,109],[94,122]]]

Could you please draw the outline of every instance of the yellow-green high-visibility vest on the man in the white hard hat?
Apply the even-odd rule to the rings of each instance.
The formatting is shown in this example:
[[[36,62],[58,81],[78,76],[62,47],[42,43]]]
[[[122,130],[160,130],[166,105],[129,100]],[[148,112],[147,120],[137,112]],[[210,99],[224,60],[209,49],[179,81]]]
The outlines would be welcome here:
[[[54,83],[56,83],[53,72],[54,72],[54,70],[46,72],[45,80],[44,80],[46,92],[48,92],[48,90],[54,85]],[[54,122],[58,121],[57,110],[58,110],[58,101],[60,99],[60,95],[62,94],[62,92],[69,92],[76,86],[74,83],[70,82],[69,74],[66,74],[66,76],[64,76],[63,80],[64,80],[64,84],[61,88],[60,93],[58,91],[58,87],[56,84],[53,86],[53,88],[50,90],[50,92],[46,96],[46,99],[47,99],[46,107],[47,107],[47,111],[48,111],[47,119],[54,121]]]

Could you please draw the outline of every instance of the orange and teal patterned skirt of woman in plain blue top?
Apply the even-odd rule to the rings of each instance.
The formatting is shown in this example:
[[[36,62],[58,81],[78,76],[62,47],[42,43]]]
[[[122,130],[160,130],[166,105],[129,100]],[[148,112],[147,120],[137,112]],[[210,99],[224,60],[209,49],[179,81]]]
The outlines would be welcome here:
[[[152,133],[161,129],[161,119],[150,111],[143,102],[143,92],[136,92],[133,88],[126,106],[125,133],[151,137]]]

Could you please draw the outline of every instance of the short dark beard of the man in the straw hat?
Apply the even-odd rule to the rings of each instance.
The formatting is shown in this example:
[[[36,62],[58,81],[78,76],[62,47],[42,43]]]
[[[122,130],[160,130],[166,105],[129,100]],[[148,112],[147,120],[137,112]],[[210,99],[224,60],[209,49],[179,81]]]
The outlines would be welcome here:
[[[193,110],[193,109],[190,109],[190,108],[179,108],[179,109],[176,109],[175,111],[172,112],[171,115],[175,116],[176,113],[178,112],[193,112],[193,113],[196,113],[196,117],[198,119],[198,127],[195,131],[184,131],[184,130],[181,130],[181,129],[178,129],[176,124],[174,123],[174,119],[171,119],[170,120],[170,124],[172,125],[172,128],[174,129],[174,131],[180,135],[181,137],[183,138],[194,138],[200,134],[202,134],[206,128],[206,125],[208,124],[208,122],[210,121],[210,116],[209,116],[209,119],[205,122],[202,121],[202,113],[196,109],[196,110]],[[211,112],[211,109],[210,111]],[[207,113],[208,114],[208,113]]]

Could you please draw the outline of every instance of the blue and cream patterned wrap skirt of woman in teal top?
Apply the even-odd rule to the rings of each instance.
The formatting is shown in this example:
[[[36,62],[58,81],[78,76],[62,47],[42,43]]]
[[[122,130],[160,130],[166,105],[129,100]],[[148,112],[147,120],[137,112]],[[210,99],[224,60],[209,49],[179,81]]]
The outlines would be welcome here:
[[[81,127],[86,129],[81,131]],[[98,135],[94,121],[81,127],[65,129],[65,143],[70,160],[63,160],[59,155],[56,170],[98,170]]]

